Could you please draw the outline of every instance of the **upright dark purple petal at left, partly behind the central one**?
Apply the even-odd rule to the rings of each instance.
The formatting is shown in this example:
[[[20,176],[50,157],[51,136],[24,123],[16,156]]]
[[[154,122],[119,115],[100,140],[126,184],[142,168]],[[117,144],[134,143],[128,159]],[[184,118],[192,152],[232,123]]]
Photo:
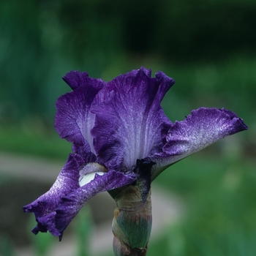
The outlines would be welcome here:
[[[56,102],[56,131],[61,138],[73,143],[72,150],[83,156],[86,162],[94,162],[91,129],[95,115],[90,110],[92,105],[98,104],[97,94],[105,82],[78,71],[69,72],[64,80],[74,91],[62,95]]]

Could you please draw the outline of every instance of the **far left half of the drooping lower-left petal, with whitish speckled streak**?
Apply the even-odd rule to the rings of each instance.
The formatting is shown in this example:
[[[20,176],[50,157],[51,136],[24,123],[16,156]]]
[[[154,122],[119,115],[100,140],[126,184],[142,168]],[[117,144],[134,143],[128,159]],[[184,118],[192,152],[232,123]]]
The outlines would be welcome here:
[[[32,230],[33,233],[37,234],[39,231],[51,230],[54,236],[60,236],[59,231],[54,230],[54,227],[49,227],[45,219],[53,219],[61,197],[80,187],[79,171],[81,167],[83,167],[83,159],[78,154],[69,154],[66,165],[62,168],[50,190],[33,203],[23,207],[25,212],[33,212],[36,217],[38,224]]]

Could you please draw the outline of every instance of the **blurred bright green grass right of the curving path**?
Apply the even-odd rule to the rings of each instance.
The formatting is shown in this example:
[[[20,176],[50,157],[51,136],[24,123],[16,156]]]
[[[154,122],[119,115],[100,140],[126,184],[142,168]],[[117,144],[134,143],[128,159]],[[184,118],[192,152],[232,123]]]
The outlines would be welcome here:
[[[148,256],[254,255],[255,168],[239,157],[189,157],[157,178],[184,198],[186,213],[149,245]],[[161,249],[162,246],[162,249]]]

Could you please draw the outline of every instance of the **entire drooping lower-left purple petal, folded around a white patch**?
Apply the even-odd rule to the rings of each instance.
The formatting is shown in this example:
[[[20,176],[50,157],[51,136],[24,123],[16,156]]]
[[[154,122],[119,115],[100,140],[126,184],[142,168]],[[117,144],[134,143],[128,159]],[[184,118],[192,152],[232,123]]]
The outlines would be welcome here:
[[[97,163],[82,167],[83,159],[77,154],[70,154],[53,187],[23,207],[25,212],[33,212],[36,217],[37,226],[32,230],[34,234],[49,231],[61,240],[69,222],[91,197],[99,192],[124,187],[137,178],[134,173],[124,174],[116,170],[106,172],[105,167]],[[86,184],[85,181],[79,182],[81,176],[89,176],[85,178]],[[80,184],[84,185],[80,187]]]

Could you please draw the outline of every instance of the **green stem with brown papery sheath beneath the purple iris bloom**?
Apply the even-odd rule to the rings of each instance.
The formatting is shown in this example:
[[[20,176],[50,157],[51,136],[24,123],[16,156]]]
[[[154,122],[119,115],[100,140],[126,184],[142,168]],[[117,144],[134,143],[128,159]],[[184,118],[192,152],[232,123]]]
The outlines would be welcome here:
[[[138,186],[123,189],[116,197],[113,250],[116,256],[145,256],[151,234],[151,192],[145,202]]]

